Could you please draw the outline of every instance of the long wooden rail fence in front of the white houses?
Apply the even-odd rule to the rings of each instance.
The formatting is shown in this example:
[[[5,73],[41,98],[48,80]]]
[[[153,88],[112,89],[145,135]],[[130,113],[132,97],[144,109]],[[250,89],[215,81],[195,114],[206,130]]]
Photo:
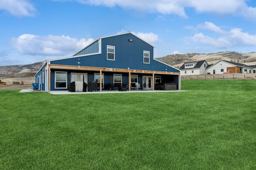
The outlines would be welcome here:
[[[182,80],[189,79],[206,79],[206,80],[256,80],[256,74],[248,73],[234,73],[234,74],[202,74],[202,75],[188,75],[180,76]]]

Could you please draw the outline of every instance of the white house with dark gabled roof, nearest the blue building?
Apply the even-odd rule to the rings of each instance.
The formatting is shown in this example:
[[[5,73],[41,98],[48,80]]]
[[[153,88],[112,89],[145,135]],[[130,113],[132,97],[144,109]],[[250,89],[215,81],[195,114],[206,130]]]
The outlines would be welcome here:
[[[208,63],[206,62],[206,60],[184,63],[180,67],[180,75],[184,76],[184,75],[205,74],[205,70],[207,66],[208,66]]]

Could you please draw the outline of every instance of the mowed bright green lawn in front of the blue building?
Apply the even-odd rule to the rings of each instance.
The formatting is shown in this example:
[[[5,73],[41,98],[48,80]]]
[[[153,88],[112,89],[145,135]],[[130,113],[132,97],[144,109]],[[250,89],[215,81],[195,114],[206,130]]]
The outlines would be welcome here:
[[[0,169],[256,169],[256,81],[188,92],[0,90]]]

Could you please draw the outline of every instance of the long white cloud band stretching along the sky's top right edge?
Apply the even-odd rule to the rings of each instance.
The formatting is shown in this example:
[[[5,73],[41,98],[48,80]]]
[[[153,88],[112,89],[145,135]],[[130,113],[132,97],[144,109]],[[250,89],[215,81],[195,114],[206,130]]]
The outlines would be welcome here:
[[[54,0],[70,1],[70,0]],[[198,13],[214,13],[218,15],[243,16],[247,20],[256,22],[256,8],[246,4],[247,0],[73,0],[81,4],[95,6],[132,9],[142,12],[160,14],[174,14],[187,18],[186,8],[194,8]]]

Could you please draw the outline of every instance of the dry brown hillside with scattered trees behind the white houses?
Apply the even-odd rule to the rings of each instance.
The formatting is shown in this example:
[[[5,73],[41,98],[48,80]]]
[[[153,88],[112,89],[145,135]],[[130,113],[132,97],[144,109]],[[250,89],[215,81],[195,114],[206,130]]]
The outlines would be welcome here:
[[[188,53],[188,54],[173,54],[161,58],[156,58],[166,64],[180,68],[183,63],[190,61],[206,60],[208,64],[217,63],[220,60],[232,61],[236,63],[246,63],[246,65],[256,64],[256,52],[252,53],[238,53],[234,51],[218,52],[218,53]]]

